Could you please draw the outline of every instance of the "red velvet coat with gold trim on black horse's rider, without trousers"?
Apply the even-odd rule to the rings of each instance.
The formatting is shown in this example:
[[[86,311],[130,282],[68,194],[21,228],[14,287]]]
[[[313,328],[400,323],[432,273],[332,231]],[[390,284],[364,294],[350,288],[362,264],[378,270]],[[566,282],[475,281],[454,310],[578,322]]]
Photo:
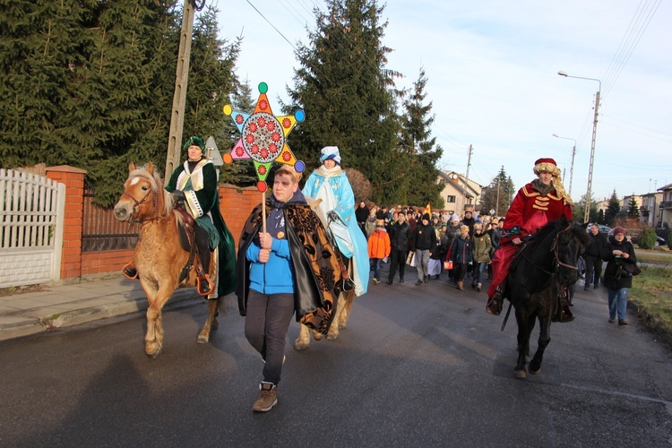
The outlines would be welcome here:
[[[526,237],[533,234],[548,221],[557,220],[562,215],[567,220],[572,220],[572,207],[557,195],[555,189],[542,196],[532,188],[533,184],[534,182],[530,182],[518,190],[504,220],[504,229],[511,231],[518,227],[521,233],[502,237],[500,244],[511,241],[515,237]]]

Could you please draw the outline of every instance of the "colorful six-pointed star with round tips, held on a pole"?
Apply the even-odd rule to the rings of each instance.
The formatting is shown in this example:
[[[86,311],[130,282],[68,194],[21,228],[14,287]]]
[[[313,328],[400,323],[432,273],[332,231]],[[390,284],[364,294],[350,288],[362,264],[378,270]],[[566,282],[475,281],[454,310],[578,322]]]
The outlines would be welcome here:
[[[297,123],[306,119],[303,110],[297,110],[290,116],[273,116],[271,105],[266,97],[268,86],[259,84],[259,99],[252,114],[233,110],[230,104],[224,106],[224,115],[231,116],[240,131],[240,140],[228,154],[224,154],[224,163],[234,159],[252,159],[254,170],[259,181],[256,188],[260,192],[268,189],[266,177],[273,161],[293,165],[297,172],[302,173],[306,164],[297,160],[287,145],[287,135]]]

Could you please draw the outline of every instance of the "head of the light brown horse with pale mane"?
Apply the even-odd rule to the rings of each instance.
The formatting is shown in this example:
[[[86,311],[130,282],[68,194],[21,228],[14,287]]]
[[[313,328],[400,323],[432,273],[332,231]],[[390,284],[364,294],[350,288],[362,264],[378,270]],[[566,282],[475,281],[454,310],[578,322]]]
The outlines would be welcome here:
[[[154,172],[154,164],[136,167],[128,165],[124,193],[115,205],[115,218],[120,221],[144,222],[158,220],[168,214],[166,191],[160,187],[161,178]]]

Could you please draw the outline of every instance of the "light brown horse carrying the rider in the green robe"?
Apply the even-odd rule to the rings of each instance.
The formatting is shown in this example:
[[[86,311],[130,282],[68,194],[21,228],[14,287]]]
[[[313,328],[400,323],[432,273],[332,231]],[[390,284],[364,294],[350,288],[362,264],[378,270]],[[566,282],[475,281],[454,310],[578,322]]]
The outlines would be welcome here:
[[[128,166],[128,178],[124,193],[115,205],[115,218],[140,224],[140,238],[135,246],[133,261],[140,277],[140,284],[150,303],[147,309],[147,334],[145,352],[156,357],[163,346],[163,324],[161,309],[178,287],[195,287],[194,267],[186,279],[180,283],[180,271],[189,260],[189,252],[180,244],[178,224],[181,216],[173,210],[172,196],[163,188],[159,174],[154,172],[150,162],[145,168],[138,168],[134,162]],[[211,257],[208,272],[214,279],[215,261]],[[215,290],[214,296],[217,296]],[[217,327],[217,312],[220,299],[210,300],[208,317],[198,342],[210,339],[211,328]]]

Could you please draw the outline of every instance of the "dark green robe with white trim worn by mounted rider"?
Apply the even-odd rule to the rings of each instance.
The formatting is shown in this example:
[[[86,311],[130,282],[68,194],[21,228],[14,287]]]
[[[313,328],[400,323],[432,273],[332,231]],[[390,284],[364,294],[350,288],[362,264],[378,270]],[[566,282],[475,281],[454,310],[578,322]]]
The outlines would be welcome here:
[[[217,295],[232,293],[236,289],[236,246],[221,216],[217,172],[211,160],[202,159],[193,172],[189,172],[188,162],[177,167],[166,190],[185,192],[185,209],[199,226],[208,230],[211,249],[219,248]]]

